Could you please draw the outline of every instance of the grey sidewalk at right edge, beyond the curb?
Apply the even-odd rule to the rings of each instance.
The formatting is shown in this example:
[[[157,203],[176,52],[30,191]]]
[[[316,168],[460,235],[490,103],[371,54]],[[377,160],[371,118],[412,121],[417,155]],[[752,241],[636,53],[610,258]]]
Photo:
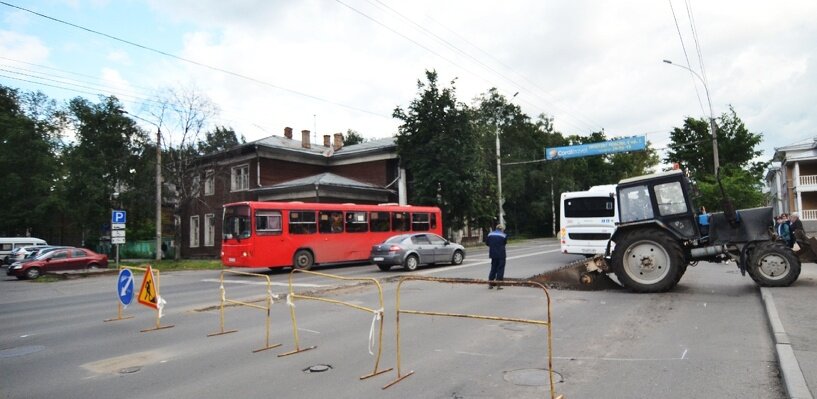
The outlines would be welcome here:
[[[804,263],[791,287],[761,288],[789,398],[817,398],[817,264]]]

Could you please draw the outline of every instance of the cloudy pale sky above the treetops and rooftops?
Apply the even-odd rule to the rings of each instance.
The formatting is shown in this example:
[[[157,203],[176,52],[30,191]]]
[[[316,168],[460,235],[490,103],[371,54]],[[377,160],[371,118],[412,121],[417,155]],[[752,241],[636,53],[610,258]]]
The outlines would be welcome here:
[[[817,138],[815,17],[813,0],[2,0],[0,84],[113,94],[145,116],[163,89],[193,88],[248,141],[380,138],[434,69],[461,102],[519,92],[564,134],[662,148],[709,115],[705,79],[714,114],[733,106],[771,157]]]

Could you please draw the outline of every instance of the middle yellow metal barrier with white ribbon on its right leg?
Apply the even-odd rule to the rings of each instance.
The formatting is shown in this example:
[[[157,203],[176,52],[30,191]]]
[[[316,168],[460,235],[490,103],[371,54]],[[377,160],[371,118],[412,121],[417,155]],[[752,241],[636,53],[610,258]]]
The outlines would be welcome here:
[[[321,277],[326,277],[326,278],[331,278],[331,279],[336,279],[336,280],[344,280],[344,281],[371,282],[377,287],[377,294],[378,294],[378,298],[380,300],[380,308],[379,309],[371,309],[371,308],[367,308],[367,307],[364,307],[364,306],[358,306],[358,305],[355,305],[355,304],[349,303],[349,302],[338,301],[338,300],[335,300],[335,299],[327,299],[327,298],[320,298],[320,297],[316,297],[316,296],[296,294],[295,291],[293,290],[293,286],[292,286],[292,276],[294,276],[295,273],[306,273],[306,274],[312,274],[312,275],[315,275],[315,276],[321,276]],[[333,275],[333,274],[326,274],[326,273],[312,272],[312,271],[307,271],[307,270],[292,269],[292,272],[289,274],[289,294],[287,295],[287,304],[289,305],[289,313],[290,313],[290,316],[292,318],[292,335],[295,337],[295,350],[293,350],[291,352],[287,352],[287,353],[282,353],[282,354],[278,355],[278,357],[289,356],[289,355],[293,355],[293,354],[296,354],[296,353],[301,353],[301,352],[304,352],[304,351],[308,351],[308,350],[317,348],[317,346],[310,346],[308,348],[301,348],[300,347],[300,342],[299,342],[299,339],[298,339],[298,322],[296,321],[296,318],[295,318],[295,302],[294,301],[296,299],[311,299],[311,300],[314,300],[314,301],[328,302],[328,303],[333,303],[333,304],[337,304],[337,305],[344,305],[344,306],[348,306],[348,307],[353,308],[353,309],[358,309],[358,310],[363,310],[363,311],[366,311],[366,312],[371,312],[373,314],[373,316],[372,316],[372,326],[371,326],[371,328],[369,330],[369,354],[372,354],[372,355],[374,355],[374,353],[372,353],[372,349],[371,349],[372,339],[373,339],[373,334],[374,334],[374,325],[375,325],[375,322],[377,322],[378,320],[380,321],[380,331],[378,333],[378,340],[377,340],[377,357],[375,358],[374,370],[371,372],[371,374],[366,374],[364,376],[361,376],[360,379],[363,380],[363,379],[366,379],[366,378],[369,378],[369,377],[374,377],[374,376],[376,376],[378,374],[382,374],[382,373],[385,373],[387,371],[392,370],[391,368],[388,368],[386,370],[378,371],[378,367],[380,365],[380,355],[383,352],[383,288],[380,286],[380,282],[377,281],[377,279],[374,279],[374,278],[350,278],[350,277],[336,276],[336,275]]]

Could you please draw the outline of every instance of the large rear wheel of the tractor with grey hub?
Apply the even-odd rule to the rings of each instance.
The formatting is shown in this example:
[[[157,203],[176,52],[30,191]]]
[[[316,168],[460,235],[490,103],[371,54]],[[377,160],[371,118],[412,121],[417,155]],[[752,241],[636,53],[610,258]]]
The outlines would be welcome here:
[[[686,270],[681,245],[659,229],[622,232],[612,261],[619,282],[634,292],[671,290]]]

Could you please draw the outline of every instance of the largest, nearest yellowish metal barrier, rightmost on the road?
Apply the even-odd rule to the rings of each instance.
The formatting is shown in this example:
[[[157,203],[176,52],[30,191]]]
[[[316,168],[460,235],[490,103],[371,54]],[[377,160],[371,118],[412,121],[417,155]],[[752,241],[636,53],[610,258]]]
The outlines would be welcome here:
[[[471,314],[462,314],[462,313],[442,313],[442,312],[429,312],[429,311],[421,311],[421,310],[407,310],[400,308],[400,288],[403,286],[403,283],[406,281],[412,280],[419,280],[419,281],[431,281],[436,283],[448,283],[448,284],[479,284],[479,285],[486,285],[486,284],[494,284],[498,286],[522,286],[522,287],[532,287],[532,288],[541,288],[545,292],[545,298],[547,300],[547,320],[528,320],[528,319],[519,319],[519,318],[509,318],[509,317],[498,317],[498,316],[484,316],[484,315],[471,315]],[[553,351],[551,349],[552,344],[552,325],[550,320],[550,293],[548,293],[547,288],[544,285],[539,284],[535,281],[488,281],[488,280],[475,280],[475,279],[464,279],[464,278],[438,278],[438,277],[425,277],[425,276],[404,276],[401,277],[399,282],[397,283],[397,304],[396,304],[396,315],[397,315],[397,324],[396,324],[396,332],[397,332],[397,379],[394,381],[386,384],[383,386],[383,389],[386,389],[406,377],[414,374],[414,370],[408,372],[407,374],[402,374],[402,369],[400,366],[401,360],[401,353],[400,353],[400,314],[417,314],[417,315],[427,315],[427,316],[445,316],[445,317],[462,317],[462,318],[469,318],[469,319],[483,319],[483,320],[498,320],[498,321],[510,321],[516,323],[524,323],[524,324],[536,324],[542,325],[547,327],[547,370],[548,376],[550,378],[550,397],[551,399],[559,399],[562,396],[556,396],[556,390],[553,386]]]

